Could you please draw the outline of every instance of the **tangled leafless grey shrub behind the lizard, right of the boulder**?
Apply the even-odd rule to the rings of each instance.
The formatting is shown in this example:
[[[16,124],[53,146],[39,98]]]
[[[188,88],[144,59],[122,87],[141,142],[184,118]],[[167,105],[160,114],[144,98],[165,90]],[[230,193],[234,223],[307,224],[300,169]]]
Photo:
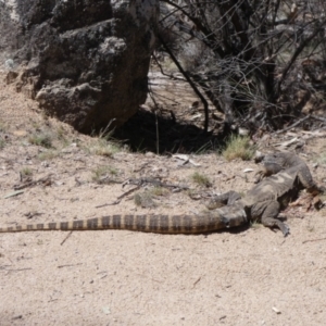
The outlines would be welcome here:
[[[324,0],[161,2],[162,29],[178,35],[173,51],[184,73],[225,123],[279,128],[325,97]]]

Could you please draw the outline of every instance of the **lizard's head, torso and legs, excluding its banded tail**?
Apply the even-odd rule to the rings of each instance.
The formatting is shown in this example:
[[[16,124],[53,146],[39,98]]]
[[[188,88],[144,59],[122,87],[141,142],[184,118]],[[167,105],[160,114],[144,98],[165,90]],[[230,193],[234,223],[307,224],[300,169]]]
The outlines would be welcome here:
[[[246,211],[248,220],[261,221],[268,227],[278,226],[287,236],[289,227],[277,218],[279,212],[297,198],[300,190],[306,188],[313,195],[322,190],[314,183],[305,162],[290,152],[266,155],[263,164],[262,174],[268,177],[250,189],[242,199],[237,192],[229,191],[212,199],[208,208],[220,206],[221,202],[227,205],[237,203]]]

